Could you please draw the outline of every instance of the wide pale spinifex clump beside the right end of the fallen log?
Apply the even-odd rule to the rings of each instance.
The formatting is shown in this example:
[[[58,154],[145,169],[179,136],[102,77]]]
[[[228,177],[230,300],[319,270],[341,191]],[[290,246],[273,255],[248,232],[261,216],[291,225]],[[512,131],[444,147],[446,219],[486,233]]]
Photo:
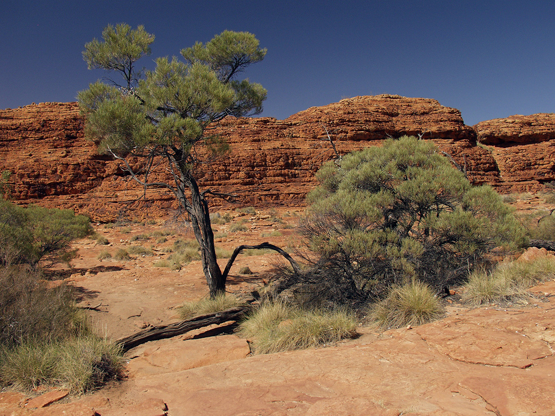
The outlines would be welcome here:
[[[345,311],[303,310],[281,302],[266,303],[240,324],[257,354],[322,346],[356,334],[355,318]]]

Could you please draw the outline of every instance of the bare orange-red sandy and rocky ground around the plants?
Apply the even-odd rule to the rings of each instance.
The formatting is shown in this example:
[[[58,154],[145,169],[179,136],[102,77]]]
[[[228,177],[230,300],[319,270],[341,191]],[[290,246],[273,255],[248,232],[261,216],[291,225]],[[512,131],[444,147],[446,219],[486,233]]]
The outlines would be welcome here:
[[[518,204],[520,210],[535,210],[542,201],[530,196]],[[270,241],[299,246],[299,237],[288,227],[296,225],[299,211],[278,211],[281,224],[271,220],[275,212],[268,210],[236,217],[233,222],[244,219],[249,231],[228,232],[218,245],[231,249]],[[214,228],[225,233],[233,222]],[[167,256],[164,247],[178,238],[193,238],[190,230],[175,224],[129,227],[129,234],[123,234],[121,227],[98,225],[98,234],[110,245],[77,242],[79,258],[67,272],[79,306],[95,307],[90,311],[95,326],[113,339],[176,321],[176,307],[208,291],[199,261],[180,271],[153,266]],[[133,235],[162,229],[179,234],[165,243],[129,242]],[[100,250],[114,253],[136,244],[154,245],[155,256],[97,260]],[[239,256],[228,291],[245,293],[262,286],[280,258],[273,253]],[[243,266],[254,274],[239,275]],[[128,377],[121,382],[36,410],[22,407],[27,395],[0,393],[0,416],[553,415],[555,282],[532,291],[537,295],[524,307],[451,306],[437,322],[381,334],[360,327],[357,339],[304,351],[250,356],[248,343],[235,335],[186,334],[149,342],[127,353]]]

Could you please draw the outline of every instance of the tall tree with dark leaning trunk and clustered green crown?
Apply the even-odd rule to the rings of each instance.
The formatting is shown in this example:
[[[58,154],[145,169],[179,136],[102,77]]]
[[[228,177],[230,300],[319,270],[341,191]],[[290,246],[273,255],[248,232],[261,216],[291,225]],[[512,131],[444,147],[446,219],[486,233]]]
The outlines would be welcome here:
[[[150,53],[153,35],[143,27],[133,30],[119,24],[108,26],[103,36],[103,42],[85,45],[84,59],[89,68],[120,72],[125,83],[97,82],[79,93],[85,135],[100,151],[120,160],[145,188],[173,192],[189,216],[210,295],[215,296],[225,291],[230,264],[221,272],[216,261],[207,197],[226,195],[200,190],[195,175],[229,150],[223,138],[208,133],[210,124],[226,116],[261,113],[266,90],[238,77],[263,60],[266,49],[251,33],[225,31],[206,44],[182,49],[183,59],[156,59],[155,69],[139,77],[135,62]],[[151,180],[161,163],[170,181]]]

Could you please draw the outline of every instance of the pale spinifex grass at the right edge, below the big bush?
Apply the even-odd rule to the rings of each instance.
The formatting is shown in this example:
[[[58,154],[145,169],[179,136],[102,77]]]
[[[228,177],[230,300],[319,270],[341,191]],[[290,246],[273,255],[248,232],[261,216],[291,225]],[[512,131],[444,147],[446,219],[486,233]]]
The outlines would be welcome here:
[[[527,288],[554,276],[555,260],[550,257],[501,263],[492,272],[472,273],[462,298],[470,305],[526,303]]]

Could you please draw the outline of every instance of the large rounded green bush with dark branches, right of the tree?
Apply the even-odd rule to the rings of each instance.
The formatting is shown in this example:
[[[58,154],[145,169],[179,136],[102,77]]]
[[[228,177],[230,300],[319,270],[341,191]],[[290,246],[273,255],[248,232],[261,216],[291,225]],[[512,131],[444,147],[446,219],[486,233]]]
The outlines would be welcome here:
[[[431,142],[387,140],[330,161],[317,179],[301,225],[317,260],[289,285],[320,298],[364,303],[413,278],[441,288],[524,242],[499,195],[472,186]]]

